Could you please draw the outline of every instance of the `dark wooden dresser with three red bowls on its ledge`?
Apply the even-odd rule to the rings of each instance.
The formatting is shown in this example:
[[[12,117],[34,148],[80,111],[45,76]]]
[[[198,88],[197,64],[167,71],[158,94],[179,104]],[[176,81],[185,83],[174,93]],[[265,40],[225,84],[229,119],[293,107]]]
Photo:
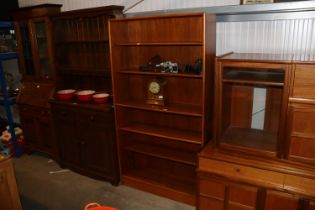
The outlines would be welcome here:
[[[108,6],[61,13],[53,18],[58,73],[56,90],[111,94],[108,20],[122,13]],[[119,183],[112,99],[105,104],[52,97],[59,163],[77,172]]]

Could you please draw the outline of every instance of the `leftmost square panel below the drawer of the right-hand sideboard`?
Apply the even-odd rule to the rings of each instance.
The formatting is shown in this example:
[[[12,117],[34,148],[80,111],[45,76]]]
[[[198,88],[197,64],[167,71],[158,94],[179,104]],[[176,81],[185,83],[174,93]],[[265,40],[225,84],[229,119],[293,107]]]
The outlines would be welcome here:
[[[223,183],[201,179],[199,190],[201,194],[224,199],[225,185]]]

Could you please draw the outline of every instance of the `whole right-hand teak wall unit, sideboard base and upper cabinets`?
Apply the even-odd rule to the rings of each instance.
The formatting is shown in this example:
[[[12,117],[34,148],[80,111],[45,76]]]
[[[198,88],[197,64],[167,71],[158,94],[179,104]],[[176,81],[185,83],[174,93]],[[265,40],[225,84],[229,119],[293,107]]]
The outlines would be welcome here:
[[[197,209],[315,209],[314,61],[217,58],[215,137],[199,154]]]

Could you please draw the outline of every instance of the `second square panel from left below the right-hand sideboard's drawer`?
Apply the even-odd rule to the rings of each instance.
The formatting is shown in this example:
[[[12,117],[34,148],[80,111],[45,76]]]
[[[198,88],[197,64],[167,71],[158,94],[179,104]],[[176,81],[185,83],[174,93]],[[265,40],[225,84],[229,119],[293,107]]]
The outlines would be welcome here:
[[[249,207],[256,206],[257,189],[254,187],[231,185],[229,187],[229,201]]]

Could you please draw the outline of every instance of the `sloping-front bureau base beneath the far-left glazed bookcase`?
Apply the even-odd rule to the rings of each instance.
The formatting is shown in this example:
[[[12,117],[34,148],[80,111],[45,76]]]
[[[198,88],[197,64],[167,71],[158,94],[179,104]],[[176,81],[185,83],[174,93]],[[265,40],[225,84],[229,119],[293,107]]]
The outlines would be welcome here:
[[[24,82],[17,97],[25,144],[31,151],[40,151],[55,158],[56,142],[48,99],[54,86],[43,82]],[[36,97],[35,97],[36,96]]]

